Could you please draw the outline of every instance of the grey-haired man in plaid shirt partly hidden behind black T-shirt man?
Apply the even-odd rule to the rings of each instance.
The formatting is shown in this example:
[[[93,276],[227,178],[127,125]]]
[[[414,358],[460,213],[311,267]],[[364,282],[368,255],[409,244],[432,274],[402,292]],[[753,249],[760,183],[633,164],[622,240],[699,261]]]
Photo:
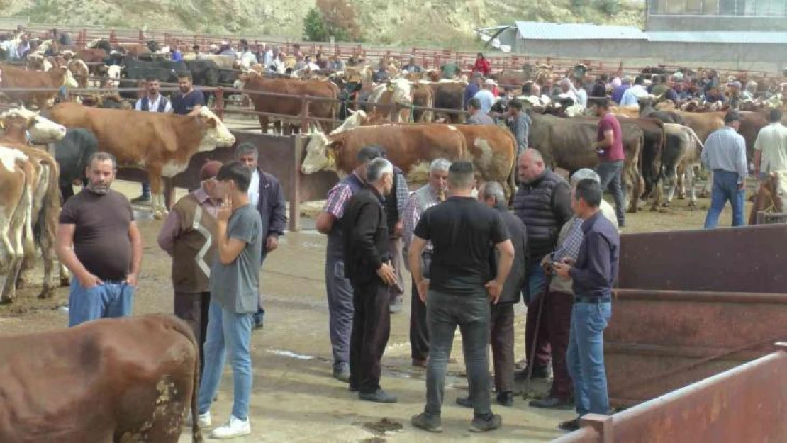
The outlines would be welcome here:
[[[445,201],[445,194],[448,192],[448,169],[451,162],[444,158],[438,158],[429,165],[429,183],[421,186],[418,190],[410,194],[407,205],[405,205],[404,218],[402,220],[402,236],[405,245],[402,248],[405,257],[412,242],[412,232],[415,231],[418,220],[424,211]],[[432,242],[427,242],[423,248],[423,276],[429,278],[429,264],[432,260]],[[405,260],[408,266],[408,260]],[[408,271],[410,269],[408,268]],[[412,365],[427,367],[427,356],[429,356],[429,330],[427,329],[427,305],[424,305],[418,297],[416,282],[412,282],[412,297],[410,301],[410,355]]]

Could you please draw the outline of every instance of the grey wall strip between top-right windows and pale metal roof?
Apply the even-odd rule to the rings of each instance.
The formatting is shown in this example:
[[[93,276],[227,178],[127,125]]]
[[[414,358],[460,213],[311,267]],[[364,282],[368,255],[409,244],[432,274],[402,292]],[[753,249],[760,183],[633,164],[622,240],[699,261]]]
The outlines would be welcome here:
[[[645,31],[787,31],[784,17],[648,16]]]

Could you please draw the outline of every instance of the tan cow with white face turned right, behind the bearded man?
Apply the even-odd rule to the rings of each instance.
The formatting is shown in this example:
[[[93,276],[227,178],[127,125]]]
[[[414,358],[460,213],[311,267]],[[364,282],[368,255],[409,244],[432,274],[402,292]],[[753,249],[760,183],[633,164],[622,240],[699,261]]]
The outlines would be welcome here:
[[[178,116],[61,103],[51,109],[50,119],[93,132],[119,166],[147,171],[156,217],[168,212],[162,177],[183,172],[194,153],[235,144],[235,135],[206,106],[198,116]]]

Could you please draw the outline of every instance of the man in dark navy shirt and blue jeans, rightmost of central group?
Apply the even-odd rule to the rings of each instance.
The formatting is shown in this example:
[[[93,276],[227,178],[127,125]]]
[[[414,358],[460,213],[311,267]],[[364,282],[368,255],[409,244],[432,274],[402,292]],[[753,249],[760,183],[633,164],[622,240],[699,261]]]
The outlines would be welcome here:
[[[579,418],[609,413],[607,375],[604,373],[604,328],[612,316],[612,286],[618,277],[620,237],[600,210],[603,188],[582,179],[574,188],[571,208],[582,222],[582,244],[577,260],[566,257],[553,263],[556,275],[573,279],[574,308],[566,361],[574,380]],[[579,418],[560,423],[560,429],[579,428]]]

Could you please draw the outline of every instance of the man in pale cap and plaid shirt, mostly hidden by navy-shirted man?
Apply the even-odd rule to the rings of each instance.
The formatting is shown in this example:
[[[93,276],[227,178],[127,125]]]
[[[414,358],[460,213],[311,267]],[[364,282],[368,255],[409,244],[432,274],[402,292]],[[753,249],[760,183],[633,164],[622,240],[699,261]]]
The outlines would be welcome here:
[[[576,186],[583,179],[593,179],[601,183],[599,175],[593,169],[583,168],[571,175],[571,186]],[[601,201],[601,214],[615,227],[618,219],[615,209],[606,201]],[[566,365],[566,352],[568,349],[569,331],[571,330],[571,308],[574,306],[574,293],[571,290],[571,279],[563,279],[552,272],[552,263],[559,262],[569,257],[577,260],[579,246],[582,245],[582,223],[584,220],[578,216],[571,217],[560,230],[557,238],[557,248],[541,260],[547,275],[552,275],[549,291],[544,301],[544,315],[549,329],[549,346],[552,348],[552,388],[546,398],[530,401],[534,408],[571,409],[573,383],[568,375]]]

